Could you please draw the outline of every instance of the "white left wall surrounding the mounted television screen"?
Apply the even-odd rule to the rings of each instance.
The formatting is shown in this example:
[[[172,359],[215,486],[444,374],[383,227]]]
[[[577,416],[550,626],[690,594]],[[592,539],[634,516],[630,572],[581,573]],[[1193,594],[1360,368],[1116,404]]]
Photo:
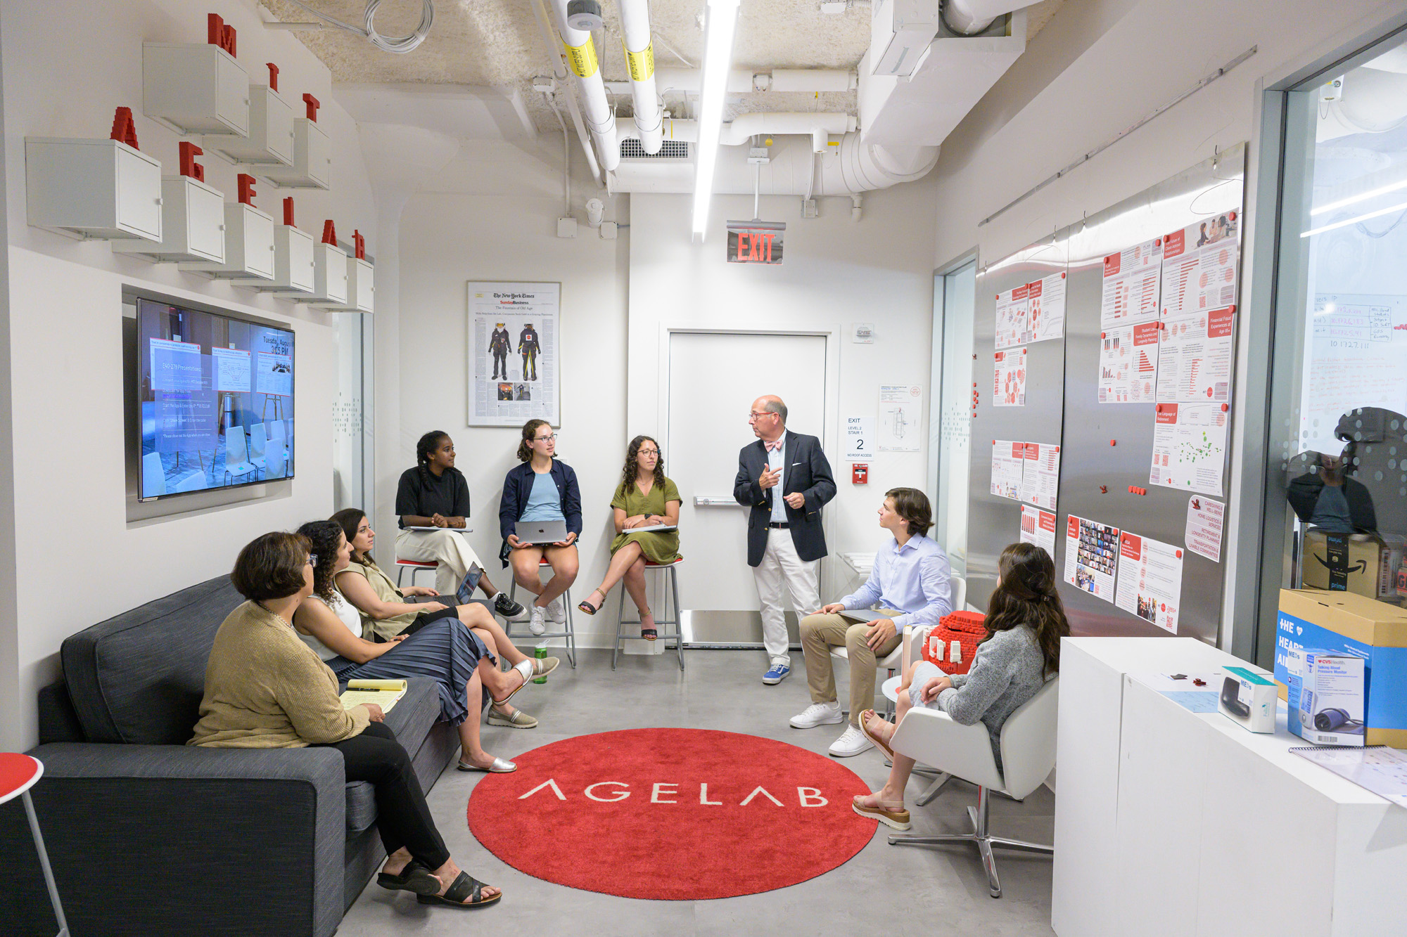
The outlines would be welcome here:
[[[266,31],[252,0],[193,6],[180,0],[76,0],[7,4],[3,21],[4,173],[10,262],[10,367],[15,509],[15,619],[0,620],[0,744],[37,739],[35,694],[58,675],[65,637],[174,589],[227,573],[253,536],[326,516],[332,505],[331,409],[336,394],[332,318],[295,304],[117,256],[106,242],[79,242],[25,222],[25,136],[106,138],[113,111],[131,107],[142,152],[176,173],[177,136],[141,114],[142,42],[204,42],[205,13],[238,30],[239,62],[263,82],[265,62],[281,68],[280,90],[322,103],[332,136],[333,189],[283,193],[256,186],[255,203],[281,219],[294,194],[297,219],[321,234],[353,228],[376,250],[374,211],[356,127],[331,96],[328,70],[291,35]],[[205,179],[235,200],[235,169],[207,155]],[[297,333],[297,478],[280,497],[128,522],[122,425],[124,286],[290,322]],[[10,471],[10,466],[4,466]]]

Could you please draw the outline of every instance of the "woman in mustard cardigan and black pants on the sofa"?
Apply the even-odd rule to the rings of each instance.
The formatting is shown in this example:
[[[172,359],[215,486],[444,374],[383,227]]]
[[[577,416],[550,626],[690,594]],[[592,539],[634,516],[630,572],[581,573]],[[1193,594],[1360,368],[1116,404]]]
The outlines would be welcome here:
[[[187,744],[339,750],[348,781],[376,789],[376,826],[388,854],[378,885],[415,892],[422,905],[497,902],[502,892],[461,871],[445,848],[411,757],[381,708],[343,709],[338,678],[294,632],[294,612],[312,594],[312,566],[308,542],[295,533],[266,533],[239,552],[229,580],[248,601],[215,632],[200,722]],[[530,673],[499,674],[490,684],[494,699],[507,702]]]

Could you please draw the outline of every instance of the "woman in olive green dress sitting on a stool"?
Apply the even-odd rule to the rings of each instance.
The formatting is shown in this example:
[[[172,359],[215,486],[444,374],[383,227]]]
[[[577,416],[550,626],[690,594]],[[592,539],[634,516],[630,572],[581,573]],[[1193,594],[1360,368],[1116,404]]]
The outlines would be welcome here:
[[[680,532],[640,530],[639,528],[668,526],[680,522],[680,490],[664,477],[660,443],[649,436],[636,436],[625,457],[620,487],[611,499],[615,512],[616,539],[611,542],[611,566],[601,585],[591,591],[578,609],[595,615],[606,602],[606,592],[625,580],[625,588],[640,609],[640,637],[658,637],[654,616],[644,595],[644,564],[673,563],[680,556]],[[601,597],[601,601],[592,602]]]

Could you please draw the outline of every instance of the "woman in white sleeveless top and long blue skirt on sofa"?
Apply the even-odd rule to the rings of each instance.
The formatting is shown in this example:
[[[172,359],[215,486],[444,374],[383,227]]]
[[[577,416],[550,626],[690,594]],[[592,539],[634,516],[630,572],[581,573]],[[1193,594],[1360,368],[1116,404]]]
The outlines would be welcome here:
[[[523,660],[508,673],[499,671],[494,637],[487,630],[464,627],[457,618],[436,619],[415,633],[402,632],[378,644],[363,640],[360,613],[333,582],[352,561],[352,544],[342,526],[335,521],[312,521],[298,528],[298,535],[308,540],[317,559],[312,595],[293,616],[298,637],[339,681],[435,678],[440,719],[459,727],[459,770],[514,771],[512,761],[495,758],[480,744],[478,709],[488,702],[507,706],[532,677],[532,663]]]

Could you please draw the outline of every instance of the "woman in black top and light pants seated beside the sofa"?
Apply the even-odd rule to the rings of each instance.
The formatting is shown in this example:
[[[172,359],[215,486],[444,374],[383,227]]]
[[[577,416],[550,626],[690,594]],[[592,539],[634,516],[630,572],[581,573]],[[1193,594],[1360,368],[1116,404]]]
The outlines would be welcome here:
[[[395,514],[401,515],[395,556],[439,563],[435,570],[436,594],[453,595],[470,566],[484,568],[466,533],[453,533],[464,530],[469,522],[469,483],[464,473],[454,467],[454,440],[449,433],[431,431],[415,443],[415,467],[402,471],[395,487]],[[478,588],[494,599],[494,611],[504,618],[525,613],[523,606],[499,592],[487,574],[478,580]]]

